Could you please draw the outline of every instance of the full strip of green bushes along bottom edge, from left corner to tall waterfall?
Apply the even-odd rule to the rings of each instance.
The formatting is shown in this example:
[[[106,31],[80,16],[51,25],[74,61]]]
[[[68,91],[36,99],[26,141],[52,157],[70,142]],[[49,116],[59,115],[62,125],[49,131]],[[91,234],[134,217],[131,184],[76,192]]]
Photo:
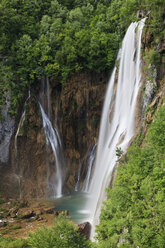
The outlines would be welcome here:
[[[18,225],[13,229],[20,228]],[[91,242],[86,241],[77,227],[66,216],[58,216],[52,227],[38,229],[29,234],[28,239],[12,239],[0,237],[1,248],[90,248]]]

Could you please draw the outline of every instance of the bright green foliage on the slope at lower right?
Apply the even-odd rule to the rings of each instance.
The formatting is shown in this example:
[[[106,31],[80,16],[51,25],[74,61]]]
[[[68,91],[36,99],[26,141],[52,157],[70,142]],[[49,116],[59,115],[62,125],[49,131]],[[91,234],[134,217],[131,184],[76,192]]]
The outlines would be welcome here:
[[[118,169],[97,228],[99,247],[165,247],[165,106],[143,146],[135,142]]]

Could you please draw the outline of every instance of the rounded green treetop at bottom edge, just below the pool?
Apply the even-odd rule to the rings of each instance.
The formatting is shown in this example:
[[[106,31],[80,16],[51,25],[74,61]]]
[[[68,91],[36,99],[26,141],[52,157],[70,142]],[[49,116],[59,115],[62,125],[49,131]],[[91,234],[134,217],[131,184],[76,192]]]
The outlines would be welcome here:
[[[52,228],[43,226],[38,232],[31,234],[28,244],[32,248],[91,247],[90,242],[85,240],[66,216],[56,218]]]

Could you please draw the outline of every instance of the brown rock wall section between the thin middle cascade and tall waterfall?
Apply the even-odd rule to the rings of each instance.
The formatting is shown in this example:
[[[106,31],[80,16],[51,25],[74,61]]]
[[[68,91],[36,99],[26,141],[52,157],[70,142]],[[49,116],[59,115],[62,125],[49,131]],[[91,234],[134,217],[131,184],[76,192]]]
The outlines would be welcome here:
[[[97,140],[107,78],[105,75],[76,75],[62,88],[58,126],[64,143],[66,190],[72,190],[78,178],[86,175],[83,163],[91,145]],[[53,92],[52,92],[53,93]],[[55,98],[54,98],[55,99]],[[53,101],[53,97],[52,97]],[[56,103],[53,106],[57,106]],[[55,113],[55,110],[53,111]],[[66,170],[67,168],[67,170]],[[64,173],[63,173],[64,174]],[[80,187],[82,181],[80,180]]]

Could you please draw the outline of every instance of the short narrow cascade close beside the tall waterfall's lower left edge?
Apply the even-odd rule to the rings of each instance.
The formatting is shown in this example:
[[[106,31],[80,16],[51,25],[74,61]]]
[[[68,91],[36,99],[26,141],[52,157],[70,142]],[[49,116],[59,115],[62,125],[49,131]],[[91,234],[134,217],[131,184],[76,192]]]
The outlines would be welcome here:
[[[88,171],[87,171],[87,175],[86,175],[86,178],[84,180],[83,187],[82,187],[82,191],[83,192],[88,192],[90,178],[91,178],[91,172],[92,172],[92,167],[93,167],[94,160],[95,160],[95,155],[96,155],[96,145],[97,144],[95,144],[92,147],[92,150],[91,150],[90,155],[89,155],[89,159],[88,159]]]

